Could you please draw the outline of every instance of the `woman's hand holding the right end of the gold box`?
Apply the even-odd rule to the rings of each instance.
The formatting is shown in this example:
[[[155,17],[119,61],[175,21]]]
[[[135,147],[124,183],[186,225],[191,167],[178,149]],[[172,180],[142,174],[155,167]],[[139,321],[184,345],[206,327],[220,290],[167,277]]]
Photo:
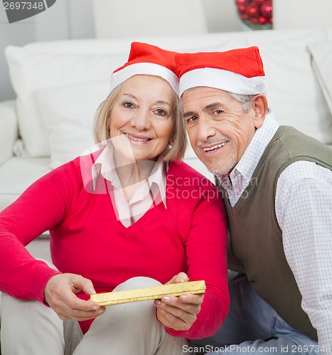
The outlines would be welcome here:
[[[183,283],[188,280],[186,273],[178,273],[167,284]],[[204,295],[181,295],[178,297],[164,295],[161,300],[155,300],[157,317],[165,327],[175,330],[188,330],[196,321]]]

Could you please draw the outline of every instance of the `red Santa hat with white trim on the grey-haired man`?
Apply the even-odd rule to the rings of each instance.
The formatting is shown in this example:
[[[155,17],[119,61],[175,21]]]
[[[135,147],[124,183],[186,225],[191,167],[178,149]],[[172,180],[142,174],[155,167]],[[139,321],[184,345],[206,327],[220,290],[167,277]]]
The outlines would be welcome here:
[[[180,96],[192,87],[213,87],[248,95],[266,90],[262,58],[257,47],[178,54],[176,67]]]

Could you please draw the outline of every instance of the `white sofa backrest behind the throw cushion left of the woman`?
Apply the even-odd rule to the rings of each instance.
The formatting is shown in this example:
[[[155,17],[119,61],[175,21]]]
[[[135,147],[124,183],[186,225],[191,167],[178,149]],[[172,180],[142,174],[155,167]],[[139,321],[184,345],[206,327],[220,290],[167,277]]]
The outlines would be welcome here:
[[[36,91],[107,79],[128,55],[127,51],[118,55],[45,54],[14,46],[5,53],[17,95],[21,137],[31,156],[50,155],[49,133],[38,111]]]

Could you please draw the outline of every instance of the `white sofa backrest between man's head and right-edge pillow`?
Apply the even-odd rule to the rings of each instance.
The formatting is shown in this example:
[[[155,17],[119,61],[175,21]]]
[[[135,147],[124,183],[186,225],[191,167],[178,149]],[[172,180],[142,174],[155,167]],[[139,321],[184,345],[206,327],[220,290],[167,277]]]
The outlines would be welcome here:
[[[308,43],[322,38],[326,38],[323,30],[279,31],[278,38],[264,38],[263,33],[256,40],[250,39],[248,45],[259,46],[267,75],[267,99],[277,121],[332,143],[331,112],[307,50]]]

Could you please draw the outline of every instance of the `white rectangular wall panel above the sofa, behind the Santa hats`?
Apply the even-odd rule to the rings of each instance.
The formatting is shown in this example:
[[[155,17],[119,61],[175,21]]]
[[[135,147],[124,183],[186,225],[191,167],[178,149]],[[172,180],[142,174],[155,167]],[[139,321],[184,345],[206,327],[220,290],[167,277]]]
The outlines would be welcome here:
[[[207,33],[201,0],[92,0],[97,38]]]

